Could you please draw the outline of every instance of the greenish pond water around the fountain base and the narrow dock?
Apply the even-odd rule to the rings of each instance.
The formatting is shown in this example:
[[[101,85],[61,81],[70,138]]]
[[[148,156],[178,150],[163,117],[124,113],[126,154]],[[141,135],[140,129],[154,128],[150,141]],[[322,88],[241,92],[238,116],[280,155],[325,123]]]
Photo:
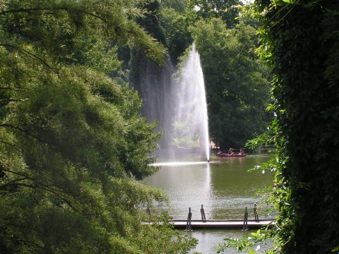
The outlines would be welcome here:
[[[203,205],[206,219],[243,219],[249,210],[249,219],[254,219],[254,203],[258,205],[260,219],[273,218],[265,214],[268,208],[258,190],[272,185],[273,174],[261,171],[248,172],[263,162],[268,156],[247,156],[220,158],[211,157],[210,162],[201,162],[198,156],[176,158],[174,162],[159,159],[160,170],[144,180],[145,184],[162,189],[169,195],[168,210],[173,219],[187,219],[191,207],[192,219],[201,219]],[[240,238],[250,231],[239,230],[194,230],[185,231],[197,238],[199,243],[194,251],[216,253],[215,245],[225,237]],[[227,253],[237,253],[227,250]]]

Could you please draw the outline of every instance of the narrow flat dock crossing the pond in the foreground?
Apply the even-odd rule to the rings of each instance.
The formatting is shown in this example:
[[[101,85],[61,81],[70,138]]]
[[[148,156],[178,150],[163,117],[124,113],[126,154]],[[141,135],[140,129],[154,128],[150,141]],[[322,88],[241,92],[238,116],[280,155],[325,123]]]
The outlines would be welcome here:
[[[174,229],[186,229],[187,220],[173,219],[169,221]],[[249,219],[246,229],[260,229],[268,224],[274,224],[274,219]],[[207,219],[206,221],[192,219],[190,229],[243,229],[244,220],[238,219]]]

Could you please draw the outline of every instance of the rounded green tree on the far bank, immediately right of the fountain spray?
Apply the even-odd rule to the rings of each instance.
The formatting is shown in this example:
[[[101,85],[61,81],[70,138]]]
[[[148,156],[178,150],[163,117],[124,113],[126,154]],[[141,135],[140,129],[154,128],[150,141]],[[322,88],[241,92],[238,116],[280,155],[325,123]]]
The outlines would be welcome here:
[[[269,121],[269,72],[254,54],[255,30],[227,29],[220,18],[200,20],[191,30],[201,54],[210,137],[220,147],[242,147]]]

